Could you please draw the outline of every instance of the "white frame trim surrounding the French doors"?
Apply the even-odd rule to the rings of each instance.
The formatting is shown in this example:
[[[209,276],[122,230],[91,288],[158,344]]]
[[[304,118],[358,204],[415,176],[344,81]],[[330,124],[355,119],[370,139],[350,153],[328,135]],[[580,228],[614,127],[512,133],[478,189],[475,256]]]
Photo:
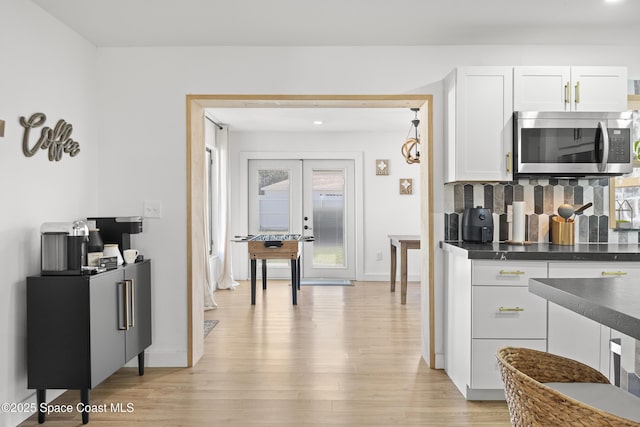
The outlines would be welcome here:
[[[353,160],[355,172],[355,221],[356,221],[356,280],[362,280],[364,276],[364,194],[363,187],[363,153],[359,151],[340,151],[340,152],[293,152],[293,151],[243,151],[240,152],[240,171],[238,173],[237,188],[242,191],[239,194],[240,206],[237,215],[238,222],[232,235],[246,235],[248,233],[249,224],[249,160]],[[247,255],[246,245],[236,244],[233,249],[234,259],[244,259]],[[236,278],[249,277],[248,263],[234,263],[234,269],[237,269]]]

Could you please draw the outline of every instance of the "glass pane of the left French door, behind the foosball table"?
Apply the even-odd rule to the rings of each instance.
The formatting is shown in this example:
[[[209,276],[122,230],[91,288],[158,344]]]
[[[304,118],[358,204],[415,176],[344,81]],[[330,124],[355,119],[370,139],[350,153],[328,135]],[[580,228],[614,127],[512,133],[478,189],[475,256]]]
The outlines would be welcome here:
[[[287,169],[258,171],[258,232],[279,234],[289,232],[290,182]],[[287,260],[268,260],[269,265],[287,264]]]

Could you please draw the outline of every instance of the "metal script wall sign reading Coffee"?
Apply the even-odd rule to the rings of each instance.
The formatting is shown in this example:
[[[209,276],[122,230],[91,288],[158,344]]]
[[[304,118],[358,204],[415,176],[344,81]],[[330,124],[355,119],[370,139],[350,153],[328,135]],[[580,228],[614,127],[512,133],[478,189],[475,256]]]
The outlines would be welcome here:
[[[44,125],[47,116],[44,113],[35,113],[28,119],[20,117],[20,124],[24,127],[24,136],[22,137],[22,152],[27,157],[33,157],[39,149],[49,151],[50,161],[60,161],[64,153],[75,157],[80,152],[80,144],[71,139],[73,126],[65,120],[58,120],[56,126],[52,129],[49,126],[42,128],[40,138],[30,147],[29,137],[31,129],[36,129]]]

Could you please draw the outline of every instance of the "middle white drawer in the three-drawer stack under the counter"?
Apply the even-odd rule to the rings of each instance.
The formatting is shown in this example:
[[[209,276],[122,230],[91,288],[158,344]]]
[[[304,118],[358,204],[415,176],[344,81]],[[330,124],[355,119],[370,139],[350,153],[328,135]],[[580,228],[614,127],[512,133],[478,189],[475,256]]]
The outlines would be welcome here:
[[[546,338],[546,301],[528,288],[475,286],[471,293],[472,338]]]

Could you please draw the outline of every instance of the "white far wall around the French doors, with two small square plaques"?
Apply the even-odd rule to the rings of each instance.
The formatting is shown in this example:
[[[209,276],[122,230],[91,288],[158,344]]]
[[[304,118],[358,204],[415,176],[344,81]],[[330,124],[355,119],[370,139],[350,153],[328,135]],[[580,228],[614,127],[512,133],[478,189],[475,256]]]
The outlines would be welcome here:
[[[407,109],[407,129],[411,121]],[[389,234],[420,234],[419,165],[409,165],[400,153],[407,129],[399,132],[233,132],[231,130],[231,170],[242,170],[243,152],[360,152],[363,154],[364,254],[358,280],[389,280]],[[376,159],[390,160],[390,174],[376,176]],[[400,178],[413,178],[413,194],[399,194]],[[246,215],[240,211],[247,200],[244,181],[232,179],[232,235],[247,234]],[[233,214],[233,212],[237,214]],[[377,260],[377,253],[382,259]],[[237,279],[248,277],[246,245],[234,245],[233,266]],[[399,265],[399,263],[398,263]],[[398,268],[399,270],[399,268]],[[419,280],[417,251],[409,251],[409,279]]]

